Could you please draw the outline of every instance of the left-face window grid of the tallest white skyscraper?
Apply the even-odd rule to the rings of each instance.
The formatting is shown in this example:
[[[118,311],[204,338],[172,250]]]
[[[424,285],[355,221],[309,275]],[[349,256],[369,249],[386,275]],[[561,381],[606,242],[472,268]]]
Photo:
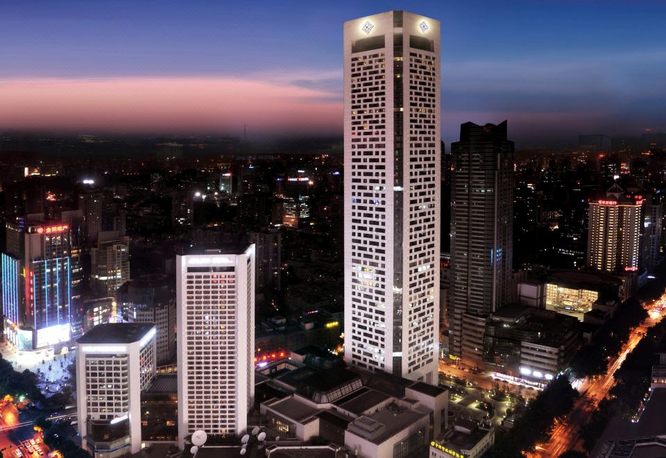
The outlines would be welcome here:
[[[352,358],[361,367],[385,367],[386,55],[373,50],[351,58],[352,130]]]

